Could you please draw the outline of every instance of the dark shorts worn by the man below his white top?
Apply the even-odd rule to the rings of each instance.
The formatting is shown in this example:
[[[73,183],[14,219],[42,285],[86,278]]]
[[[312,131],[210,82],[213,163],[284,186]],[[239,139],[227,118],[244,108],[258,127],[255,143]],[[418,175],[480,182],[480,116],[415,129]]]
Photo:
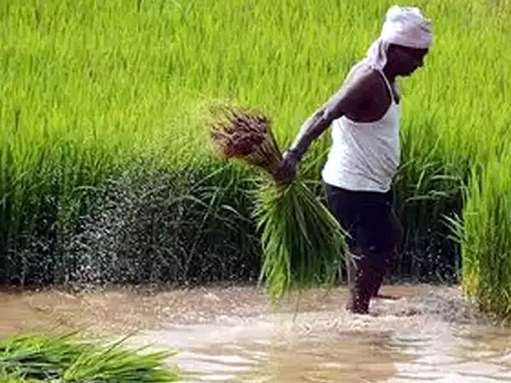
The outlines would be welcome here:
[[[392,191],[350,191],[324,183],[330,211],[348,233],[351,252],[391,252],[395,241],[392,231]]]

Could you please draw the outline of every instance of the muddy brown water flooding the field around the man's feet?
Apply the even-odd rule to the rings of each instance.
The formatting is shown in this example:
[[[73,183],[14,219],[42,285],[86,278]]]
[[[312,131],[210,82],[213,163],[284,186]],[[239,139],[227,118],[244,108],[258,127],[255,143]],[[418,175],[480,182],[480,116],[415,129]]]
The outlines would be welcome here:
[[[252,287],[0,293],[0,335],[87,326],[88,336],[179,353],[182,382],[511,382],[511,329],[456,288],[385,287],[370,315],[346,290],[293,296],[279,309]],[[297,304],[298,302],[298,304]]]

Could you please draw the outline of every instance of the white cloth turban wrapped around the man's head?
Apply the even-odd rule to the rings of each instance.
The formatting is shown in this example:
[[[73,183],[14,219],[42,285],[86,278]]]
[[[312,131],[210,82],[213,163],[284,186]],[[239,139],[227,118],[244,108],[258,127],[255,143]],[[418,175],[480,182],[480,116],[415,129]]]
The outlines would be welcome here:
[[[380,37],[370,46],[365,61],[371,67],[383,70],[390,44],[427,49],[432,41],[431,22],[418,8],[392,6],[387,11]]]

